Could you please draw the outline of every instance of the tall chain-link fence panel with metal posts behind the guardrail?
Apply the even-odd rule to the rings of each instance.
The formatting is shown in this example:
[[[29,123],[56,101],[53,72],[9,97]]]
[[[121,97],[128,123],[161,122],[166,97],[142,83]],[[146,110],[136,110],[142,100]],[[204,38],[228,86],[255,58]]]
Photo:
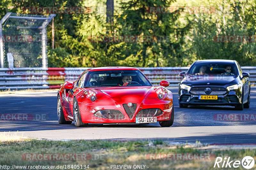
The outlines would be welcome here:
[[[47,67],[46,26],[55,14],[6,15],[0,23],[1,67]]]

